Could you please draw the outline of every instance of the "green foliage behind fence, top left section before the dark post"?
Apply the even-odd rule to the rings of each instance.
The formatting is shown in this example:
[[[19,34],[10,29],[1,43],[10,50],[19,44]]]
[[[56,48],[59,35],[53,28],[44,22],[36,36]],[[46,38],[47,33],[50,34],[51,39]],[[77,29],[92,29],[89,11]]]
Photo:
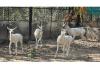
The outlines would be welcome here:
[[[10,21],[21,21],[28,20],[29,17],[28,8],[0,8],[0,20],[10,20]]]

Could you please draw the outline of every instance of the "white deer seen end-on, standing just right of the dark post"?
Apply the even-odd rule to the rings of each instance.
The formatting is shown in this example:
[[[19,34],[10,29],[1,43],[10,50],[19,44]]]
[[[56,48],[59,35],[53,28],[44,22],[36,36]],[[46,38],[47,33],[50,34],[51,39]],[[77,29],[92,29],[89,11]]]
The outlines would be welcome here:
[[[37,28],[34,32],[34,36],[36,39],[36,49],[38,48],[39,42],[41,42],[41,46],[42,46],[42,35],[43,35],[42,25],[38,27],[39,28]]]

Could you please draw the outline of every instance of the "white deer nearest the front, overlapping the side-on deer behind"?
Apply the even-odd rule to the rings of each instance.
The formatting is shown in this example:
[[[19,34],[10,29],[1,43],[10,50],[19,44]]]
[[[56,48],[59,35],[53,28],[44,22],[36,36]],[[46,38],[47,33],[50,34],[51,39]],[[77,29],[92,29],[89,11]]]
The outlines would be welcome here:
[[[73,42],[74,37],[72,37],[70,35],[65,35],[65,33],[66,33],[66,30],[62,29],[61,34],[57,38],[57,50],[56,50],[55,57],[57,56],[60,45],[62,45],[62,47],[63,47],[63,54],[65,52],[66,52],[66,56],[68,56],[68,54],[69,54],[70,45]]]

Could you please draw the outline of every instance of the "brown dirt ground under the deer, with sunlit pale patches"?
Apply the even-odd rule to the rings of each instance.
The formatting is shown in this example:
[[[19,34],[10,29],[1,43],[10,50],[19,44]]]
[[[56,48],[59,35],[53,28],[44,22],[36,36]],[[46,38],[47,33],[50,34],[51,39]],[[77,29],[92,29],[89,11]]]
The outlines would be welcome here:
[[[54,58],[56,52],[56,41],[48,40],[43,43],[43,47],[39,47],[33,58],[27,56],[30,49],[34,49],[35,43],[30,42],[24,44],[24,53],[18,49],[18,55],[9,55],[8,43],[0,44],[0,61],[2,62],[86,62],[100,61],[100,47],[86,47],[79,44],[72,44],[68,57],[62,56],[62,50],[59,55]],[[14,52],[14,51],[13,51]]]

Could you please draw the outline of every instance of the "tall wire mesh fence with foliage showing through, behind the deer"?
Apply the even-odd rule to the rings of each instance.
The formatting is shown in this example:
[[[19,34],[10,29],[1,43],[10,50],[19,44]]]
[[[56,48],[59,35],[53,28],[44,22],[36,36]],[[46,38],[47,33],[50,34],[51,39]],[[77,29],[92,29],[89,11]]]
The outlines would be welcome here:
[[[68,14],[69,7],[33,7],[31,39],[34,40],[34,31],[37,25],[43,25],[43,39],[56,39],[60,34],[64,16]],[[0,7],[0,40],[8,40],[7,26],[17,27],[15,33],[21,33],[24,40],[29,39],[29,8],[27,7]],[[99,16],[97,25],[100,26]]]

